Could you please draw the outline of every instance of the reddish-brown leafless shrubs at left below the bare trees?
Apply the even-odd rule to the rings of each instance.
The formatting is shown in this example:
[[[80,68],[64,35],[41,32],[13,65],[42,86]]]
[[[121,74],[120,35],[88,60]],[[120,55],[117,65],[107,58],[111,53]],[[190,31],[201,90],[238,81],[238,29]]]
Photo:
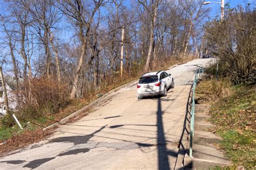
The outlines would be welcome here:
[[[66,84],[59,84],[54,77],[34,78],[30,83],[24,82],[23,89],[23,104],[15,114],[21,122],[35,121],[37,118],[56,114],[69,103]],[[8,114],[1,123],[5,127],[11,127],[15,121]]]

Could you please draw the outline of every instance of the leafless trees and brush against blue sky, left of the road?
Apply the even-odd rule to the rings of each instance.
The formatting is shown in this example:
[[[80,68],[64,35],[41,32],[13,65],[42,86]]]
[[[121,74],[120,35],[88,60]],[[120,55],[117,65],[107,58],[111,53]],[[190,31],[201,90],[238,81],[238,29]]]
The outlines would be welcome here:
[[[55,112],[205,50],[203,0],[19,0],[4,8],[2,68],[26,112]]]

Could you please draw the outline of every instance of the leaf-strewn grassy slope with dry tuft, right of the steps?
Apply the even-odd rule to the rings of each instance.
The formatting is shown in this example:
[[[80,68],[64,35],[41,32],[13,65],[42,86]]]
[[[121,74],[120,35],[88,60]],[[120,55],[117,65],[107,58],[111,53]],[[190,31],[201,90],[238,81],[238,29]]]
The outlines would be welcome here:
[[[199,102],[210,102],[213,132],[223,138],[217,147],[238,166],[256,167],[256,86],[228,87],[226,80],[204,80],[198,84]],[[215,83],[209,87],[209,83]],[[217,93],[216,89],[219,90]],[[205,93],[203,93],[203,91]],[[218,95],[219,94],[219,95]],[[212,96],[215,97],[213,100]]]

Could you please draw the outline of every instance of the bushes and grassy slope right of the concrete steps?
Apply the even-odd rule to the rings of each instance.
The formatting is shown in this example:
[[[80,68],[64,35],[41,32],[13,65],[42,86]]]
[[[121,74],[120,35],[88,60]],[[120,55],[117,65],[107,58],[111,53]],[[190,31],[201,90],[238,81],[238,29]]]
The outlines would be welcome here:
[[[223,138],[217,147],[234,164],[226,169],[256,168],[256,11],[247,7],[206,26],[208,49],[219,60],[196,89],[198,102],[211,105],[212,132]]]

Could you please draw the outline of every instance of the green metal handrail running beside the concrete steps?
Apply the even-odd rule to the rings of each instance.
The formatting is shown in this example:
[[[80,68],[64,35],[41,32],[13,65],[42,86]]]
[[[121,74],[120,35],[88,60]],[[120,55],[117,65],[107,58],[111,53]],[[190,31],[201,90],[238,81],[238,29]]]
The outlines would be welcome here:
[[[215,64],[215,60],[212,59],[209,62],[206,63],[206,67],[209,67],[211,65]],[[192,85],[192,98],[191,98],[191,110],[190,110],[190,157],[192,157],[192,152],[193,152],[193,136],[194,136],[194,107],[195,107],[195,101],[194,101],[194,94],[198,82],[198,77],[201,77],[204,75],[204,67],[200,67],[196,70],[196,73],[194,75],[194,81]]]

